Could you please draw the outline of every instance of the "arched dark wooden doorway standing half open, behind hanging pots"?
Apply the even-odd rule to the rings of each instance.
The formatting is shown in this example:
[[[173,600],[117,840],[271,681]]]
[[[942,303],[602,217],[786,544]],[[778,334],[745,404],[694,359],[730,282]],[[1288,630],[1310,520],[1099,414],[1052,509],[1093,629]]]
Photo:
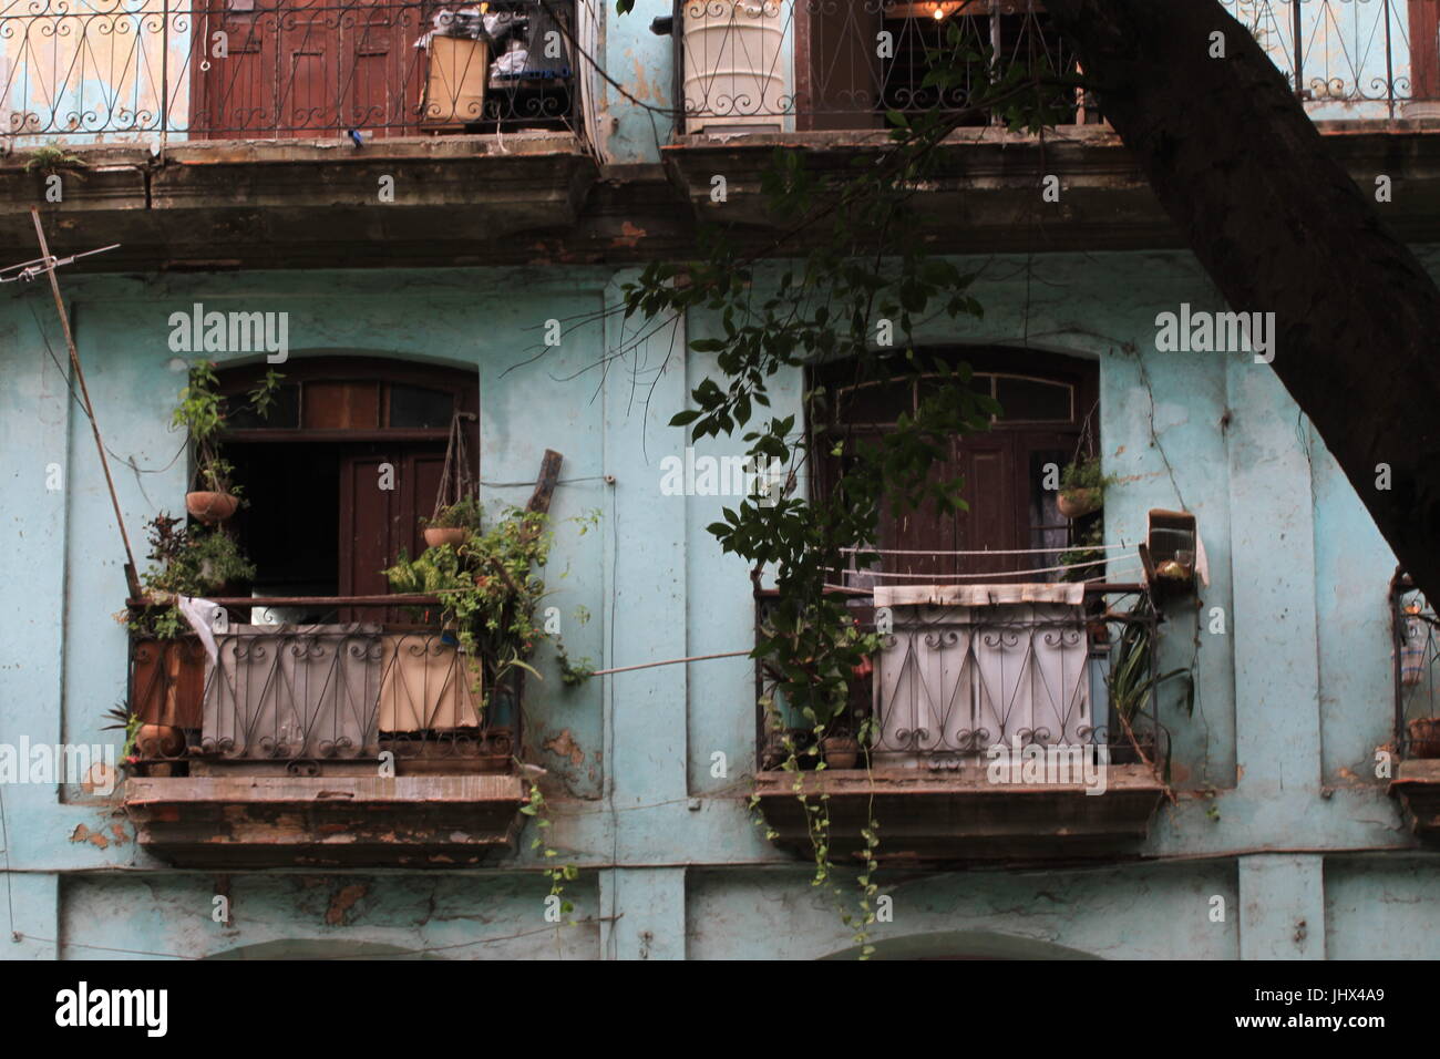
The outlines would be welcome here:
[[[220,392],[243,395],[268,367],[217,372]],[[469,474],[480,473],[477,373],[374,357],[294,359],[276,370],[284,385],[269,415],[238,409],[222,435],[248,501],[233,526],[256,568],[251,588],[265,596],[382,595],[380,571],[402,548],[423,549],[419,519],[433,510],[455,416]],[[282,617],[331,615],[298,608]],[[338,617],[380,620],[383,611]]]

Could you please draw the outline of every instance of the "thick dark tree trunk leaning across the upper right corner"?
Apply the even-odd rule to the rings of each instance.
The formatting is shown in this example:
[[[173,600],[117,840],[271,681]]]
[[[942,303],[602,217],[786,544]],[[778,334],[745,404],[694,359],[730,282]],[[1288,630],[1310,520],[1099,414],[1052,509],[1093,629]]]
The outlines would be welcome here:
[[[1331,158],[1284,75],[1215,0],[1045,9],[1230,307],[1274,313],[1270,367],[1440,599],[1440,291],[1382,226],[1372,179],[1356,187]],[[1223,59],[1210,58],[1217,30]]]

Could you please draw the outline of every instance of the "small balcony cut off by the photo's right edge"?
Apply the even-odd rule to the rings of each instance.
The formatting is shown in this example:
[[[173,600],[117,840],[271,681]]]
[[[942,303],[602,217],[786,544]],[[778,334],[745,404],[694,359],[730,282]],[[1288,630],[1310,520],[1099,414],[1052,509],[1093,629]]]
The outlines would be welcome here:
[[[1424,840],[1440,840],[1440,620],[1408,575],[1391,584],[1395,765],[1390,791]]]

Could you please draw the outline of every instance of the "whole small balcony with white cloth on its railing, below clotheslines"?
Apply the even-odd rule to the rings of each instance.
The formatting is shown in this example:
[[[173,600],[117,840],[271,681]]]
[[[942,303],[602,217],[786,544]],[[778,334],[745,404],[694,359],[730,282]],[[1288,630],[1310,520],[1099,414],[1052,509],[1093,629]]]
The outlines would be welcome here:
[[[900,862],[1113,856],[1145,839],[1169,754],[1155,671],[1161,620],[1126,607],[1142,585],[906,585],[857,592],[860,627],[881,633],[851,684],[858,754],[814,746],[757,673],[756,794],[782,846],[805,852],[796,784],[828,795],[832,849],[863,847],[884,821]],[[757,596],[757,630],[773,596]],[[1117,667],[1123,666],[1123,674]],[[865,720],[870,725],[864,725]],[[798,751],[786,768],[789,751]],[[824,762],[824,768],[819,765]],[[798,768],[796,768],[798,765]]]

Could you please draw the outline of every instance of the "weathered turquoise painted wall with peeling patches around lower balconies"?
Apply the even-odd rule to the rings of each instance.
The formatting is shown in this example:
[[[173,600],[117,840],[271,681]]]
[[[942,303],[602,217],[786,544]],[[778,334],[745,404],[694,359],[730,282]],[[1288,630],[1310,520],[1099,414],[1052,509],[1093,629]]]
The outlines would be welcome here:
[[[1440,255],[1426,256],[1440,272]],[[173,460],[181,438],[167,428],[183,382],[166,346],[168,314],[194,301],[284,310],[292,357],[359,352],[474,369],[487,500],[523,500],[527,486],[494,483],[533,480],[544,448],[564,454],[547,581],[572,654],[629,666],[743,650],[749,578],[704,532],[727,500],[660,491],[660,461],[685,444],[665,422],[706,373],[684,340],[716,324],[697,314],[688,336],[654,334],[602,373],[598,362],[624,331],[618,314],[602,321],[600,313],[626,278],[580,268],[333,271],[66,277],[65,288],[137,545],[143,522],[179,510],[186,487],[184,460]],[[1110,540],[1140,540],[1151,507],[1197,513],[1211,585],[1197,618],[1172,621],[1164,661],[1194,658],[1200,697],[1194,719],[1166,703],[1178,798],[1155,818],[1143,853],[1174,860],[883,872],[894,898],[894,921],[876,934],[883,951],[1264,958],[1382,945],[1385,955],[1434,957],[1420,925],[1440,899],[1437,862],[1413,850],[1371,764],[1391,728],[1394,558],[1323,445],[1248,354],[1155,352],[1158,311],[1181,301],[1223,308],[1188,256],[996,258],[984,262],[975,292],[982,320],[935,324],[924,337],[1099,360],[1104,464],[1120,477],[1106,503]],[[556,349],[543,347],[550,318],[563,323]],[[0,584],[14,595],[0,641],[0,742],[109,741],[102,715],[125,683],[124,631],[111,618],[125,595],[121,552],[88,426],[40,327],[63,362],[46,292],[7,288]],[[779,396],[785,414],[798,379]],[[720,441],[700,451],[742,450]],[[50,464],[63,488],[46,490]],[[596,509],[595,533],[564,522]],[[1129,573],[1125,563],[1116,560],[1116,575]],[[577,605],[589,622],[573,621]],[[1223,611],[1225,633],[1210,631],[1211,608]],[[747,818],[755,713],[744,658],[575,690],[562,690],[547,656],[539,666],[547,679],[531,686],[531,758],[572,794],[554,800],[552,843],[582,866],[567,890],[590,921],[560,932],[564,955],[848,949],[848,931],[804,864],[770,849]],[[478,939],[513,955],[549,955],[557,944],[528,831],[516,854],[477,872],[236,875],[222,883],[233,909],[223,926],[210,918],[216,876],[148,859],[118,798],[33,784],[0,795],[9,837],[0,867],[16,895],[7,926],[22,935],[0,934],[6,957],[389,945],[395,955],[471,958]]]

